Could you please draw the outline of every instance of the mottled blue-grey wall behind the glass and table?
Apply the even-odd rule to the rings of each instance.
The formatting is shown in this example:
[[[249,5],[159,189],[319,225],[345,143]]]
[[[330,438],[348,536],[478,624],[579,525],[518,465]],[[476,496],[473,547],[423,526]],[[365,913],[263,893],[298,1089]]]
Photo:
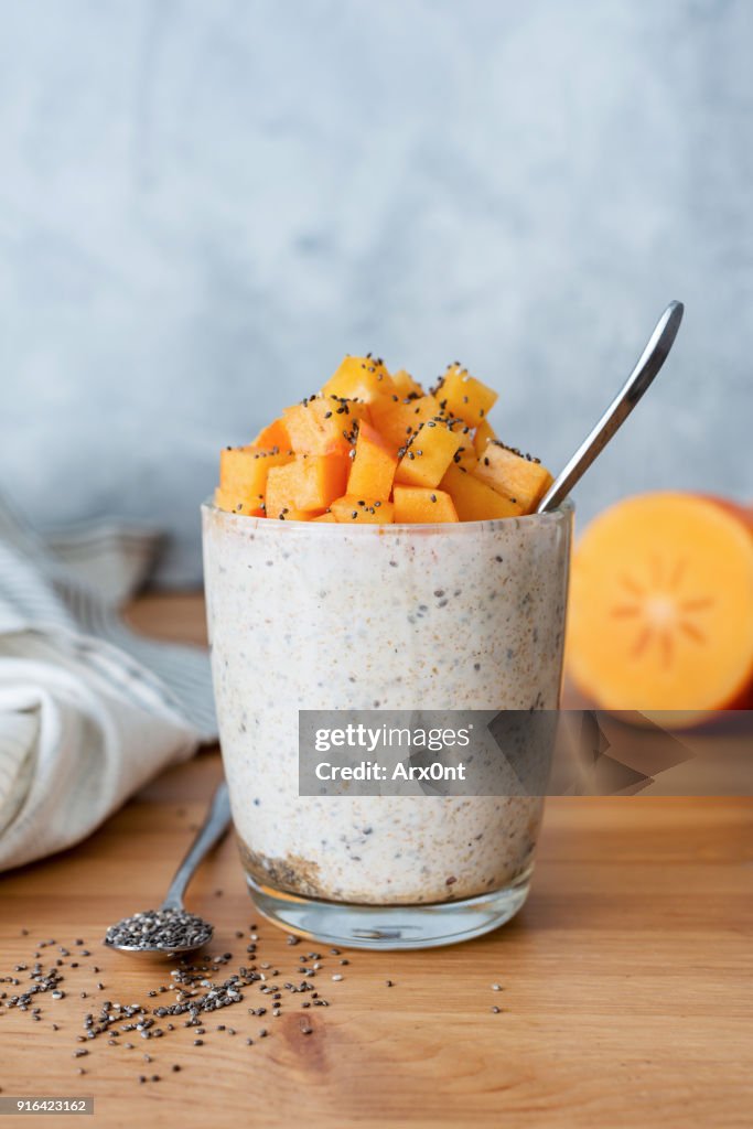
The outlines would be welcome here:
[[[345,351],[500,388],[578,491],[753,496],[753,3],[0,0],[0,488],[199,578],[217,450]]]

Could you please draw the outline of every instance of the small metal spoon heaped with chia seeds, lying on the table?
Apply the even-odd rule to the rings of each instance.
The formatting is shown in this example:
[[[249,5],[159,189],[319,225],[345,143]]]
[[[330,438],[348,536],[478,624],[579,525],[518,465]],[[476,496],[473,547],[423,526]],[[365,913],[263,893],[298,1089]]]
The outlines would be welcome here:
[[[207,819],[196,832],[181,863],[165,901],[158,910],[145,910],[111,925],[103,944],[121,953],[178,956],[192,953],[211,940],[214,927],[183,905],[183,895],[196,868],[230,826],[230,800],[222,781],[210,805]]]

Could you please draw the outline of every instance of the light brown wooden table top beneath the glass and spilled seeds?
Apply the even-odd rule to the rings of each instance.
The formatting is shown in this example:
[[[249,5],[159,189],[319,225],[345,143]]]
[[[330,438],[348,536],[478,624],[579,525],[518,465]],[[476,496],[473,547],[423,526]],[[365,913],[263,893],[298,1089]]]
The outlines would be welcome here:
[[[202,638],[198,597],[149,597],[131,619],[155,634]],[[163,1039],[133,1038],[132,1050],[100,1038],[73,1058],[82,1017],[103,999],[160,1003],[147,992],[169,983],[166,966],[105,953],[98,939],[113,920],[158,903],[220,771],[218,752],[202,752],[77,849],[0,878],[1,975],[35,951],[59,957],[35,949],[40,939],[73,948],[82,938],[90,952],[77,969],[59,957],[67,995],[40,997],[38,1021],[0,1009],[0,1096],[94,1095],[84,1123],[102,1126],[753,1123],[748,799],[549,800],[531,898],[497,933],[417,953],[350,952],[348,965],[322,946],[315,986],[329,1008],[303,1010],[303,997],[284,992],[282,1015],[260,1019],[248,1007],[269,1000],[254,984],[243,1004],[210,1016],[201,1047],[178,1019]],[[230,839],[189,901],[217,924],[211,952],[234,954],[226,975],[249,960],[254,921],[257,960],[280,982],[316,947],[289,946],[260,918]],[[139,1083],[142,1074],[159,1080]]]

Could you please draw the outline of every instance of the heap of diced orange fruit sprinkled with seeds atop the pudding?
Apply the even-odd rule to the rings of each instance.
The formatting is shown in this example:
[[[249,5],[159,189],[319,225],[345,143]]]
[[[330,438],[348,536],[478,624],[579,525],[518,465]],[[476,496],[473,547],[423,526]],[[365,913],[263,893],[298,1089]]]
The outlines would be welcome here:
[[[448,366],[435,395],[404,369],[391,376],[379,358],[345,357],[319,393],[286,408],[251,446],[221,453],[216,505],[271,520],[324,524],[345,517],[471,522],[529,513],[549,472],[508,456],[508,448],[487,454],[496,438],[487,412],[496,400],[492,388],[457,364]],[[484,452],[482,463],[478,452]],[[353,499],[368,502],[354,519]]]

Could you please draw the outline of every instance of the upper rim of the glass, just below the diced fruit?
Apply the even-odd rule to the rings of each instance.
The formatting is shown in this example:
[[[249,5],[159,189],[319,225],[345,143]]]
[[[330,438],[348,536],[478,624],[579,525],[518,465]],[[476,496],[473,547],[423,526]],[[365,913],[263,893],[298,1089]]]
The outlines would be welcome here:
[[[422,533],[436,533],[445,534],[449,536],[463,536],[470,535],[471,533],[482,533],[482,532],[497,532],[509,527],[511,522],[516,524],[523,522],[526,526],[546,525],[554,524],[562,520],[567,520],[575,514],[575,502],[571,498],[566,498],[564,501],[552,510],[548,510],[545,514],[520,514],[515,517],[489,517],[483,518],[480,522],[415,522],[415,523],[385,523],[384,525],[377,523],[364,523],[362,525],[348,525],[345,522],[286,522],[283,518],[278,517],[254,517],[249,514],[234,514],[227,509],[220,509],[216,506],[212,498],[207,498],[201,504],[201,510],[207,513],[222,514],[224,519],[228,519],[230,524],[238,525],[238,523],[247,523],[249,528],[259,530],[270,526],[271,530],[284,530],[286,533],[298,533],[299,535],[314,535],[318,536],[322,530],[338,528],[340,531],[348,531],[349,533],[356,533],[358,536],[395,536],[400,534],[405,536],[408,534],[420,535]],[[271,532],[270,530],[270,532]],[[325,536],[332,536],[333,534],[324,534]]]

